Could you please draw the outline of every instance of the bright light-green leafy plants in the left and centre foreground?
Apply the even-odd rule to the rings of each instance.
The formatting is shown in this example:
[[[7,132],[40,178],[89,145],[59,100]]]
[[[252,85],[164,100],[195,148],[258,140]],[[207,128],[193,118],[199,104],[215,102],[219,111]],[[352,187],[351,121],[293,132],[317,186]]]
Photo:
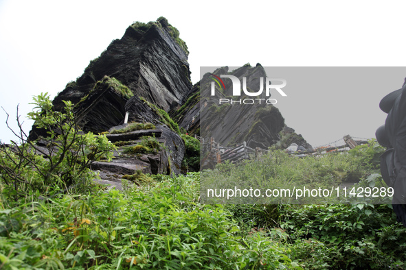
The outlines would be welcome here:
[[[0,236],[0,258],[5,269],[298,269],[281,231],[241,237],[223,206],[199,204],[198,178],[166,177],[148,192],[64,195],[0,212],[0,220],[23,217]]]

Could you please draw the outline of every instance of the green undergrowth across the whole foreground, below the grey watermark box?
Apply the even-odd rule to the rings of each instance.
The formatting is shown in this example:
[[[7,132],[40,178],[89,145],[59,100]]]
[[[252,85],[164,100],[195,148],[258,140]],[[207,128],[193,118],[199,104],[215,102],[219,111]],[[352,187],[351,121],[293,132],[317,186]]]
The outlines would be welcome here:
[[[203,205],[199,173],[120,191],[3,196],[3,269],[403,269],[390,206]]]

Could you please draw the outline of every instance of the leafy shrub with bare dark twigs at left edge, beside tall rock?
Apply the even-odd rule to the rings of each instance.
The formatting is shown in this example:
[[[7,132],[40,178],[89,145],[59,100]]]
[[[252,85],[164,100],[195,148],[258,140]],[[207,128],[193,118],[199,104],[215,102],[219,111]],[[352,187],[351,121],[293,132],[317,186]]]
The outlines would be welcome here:
[[[0,147],[0,182],[6,197],[47,195],[55,188],[87,186],[95,177],[89,169],[91,162],[111,159],[115,146],[106,136],[83,134],[74,117],[74,106],[64,102],[64,112],[56,112],[47,93],[34,97],[34,111],[28,117],[35,127],[47,131],[46,137],[36,140],[43,140],[45,147],[29,140],[23,130],[14,133],[19,134],[19,144]],[[18,118],[17,123],[21,127]]]

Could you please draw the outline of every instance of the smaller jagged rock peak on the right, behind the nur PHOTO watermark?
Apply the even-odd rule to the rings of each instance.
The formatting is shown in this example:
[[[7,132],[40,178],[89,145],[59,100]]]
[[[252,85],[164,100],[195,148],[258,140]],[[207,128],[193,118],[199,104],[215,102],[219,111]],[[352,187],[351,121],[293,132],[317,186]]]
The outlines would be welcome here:
[[[247,79],[247,89],[258,89],[258,78],[267,77],[263,67],[260,64],[252,67],[245,65],[239,69],[229,72],[227,66],[217,69],[214,75],[234,75],[242,82],[243,77]],[[178,110],[172,110],[170,115],[179,121],[179,126],[188,130],[190,134],[199,134],[206,141],[213,137],[216,142],[225,147],[231,147],[247,142],[251,148],[260,147],[267,149],[283,140],[278,144],[279,147],[285,147],[286,144],[297,143],[310,149],[306,140],[302,136],[295,134],[294,130],[286,127],[284,118],[277,107],[262,101],[261,104],[231,105],[230,103],[218,104],[219,98],[232,99],[232,82],[229,79],[223,79],[225,89],[218,92],[217,99],[210,97],[210,74],[203,76],[201,82],[196,84],[186,101]],[[252,90],[251,90],[252,91]],[[249,98],[243,95],[240,99]],[[256,99],[268,99],[265,92],[256,97]],[[199,103],[199,99],[201,102]],[[289,145],[288,145],[289,146]]]

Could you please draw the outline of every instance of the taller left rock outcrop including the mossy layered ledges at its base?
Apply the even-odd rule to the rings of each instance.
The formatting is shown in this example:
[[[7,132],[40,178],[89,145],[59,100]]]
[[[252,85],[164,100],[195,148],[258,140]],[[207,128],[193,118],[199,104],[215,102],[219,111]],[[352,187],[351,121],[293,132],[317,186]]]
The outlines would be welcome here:
[[[185,144],[167,111],[179,107],[191,88],[188,48],[178,30],[161,17],[129,26],[120,40],[91,60],[83,75],[67,84],[53,105],[61,111],[63,101],[74,103],[84,132],[124,128],[126,113],[128,123],[155,125],[153,130],[106,134],[119,149],[112,162],[92,164],[104,180],[120,180],[137,171],[172,175],[181,171]],[[45,132],[33,127],[30,139]],[[146,141],[155,145],[143,146]]]

